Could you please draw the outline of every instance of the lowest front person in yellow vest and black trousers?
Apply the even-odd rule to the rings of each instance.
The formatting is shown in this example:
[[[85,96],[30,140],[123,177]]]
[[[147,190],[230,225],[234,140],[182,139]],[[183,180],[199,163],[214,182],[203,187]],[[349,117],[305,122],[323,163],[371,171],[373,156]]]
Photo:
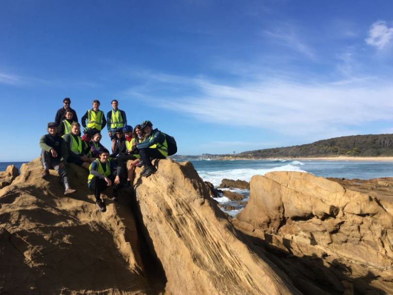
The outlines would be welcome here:
[[[98,210],[104,212],[106,210],[105,202],[101,199],[101,192],[113,185],[114,164],[109,160],[109,151],[105,148],[100,151],[99,158],[93,161],[89,167],[90,173],[87,178],[88,188],[94,192],[96,197],[96,205]],[[116,200],[118,195],[117,186],[114,185],[112,200]]]

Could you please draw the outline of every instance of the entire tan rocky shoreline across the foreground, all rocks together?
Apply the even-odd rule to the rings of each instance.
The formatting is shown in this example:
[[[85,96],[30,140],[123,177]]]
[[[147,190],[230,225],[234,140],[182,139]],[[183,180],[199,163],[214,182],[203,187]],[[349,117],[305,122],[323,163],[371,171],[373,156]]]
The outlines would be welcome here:
[[[83,168],[64,197],[24,164],[0,190],[0,293],[393,294],[393,179],[254,176],[231,219],[192,164],[155,164],[106,213]]]

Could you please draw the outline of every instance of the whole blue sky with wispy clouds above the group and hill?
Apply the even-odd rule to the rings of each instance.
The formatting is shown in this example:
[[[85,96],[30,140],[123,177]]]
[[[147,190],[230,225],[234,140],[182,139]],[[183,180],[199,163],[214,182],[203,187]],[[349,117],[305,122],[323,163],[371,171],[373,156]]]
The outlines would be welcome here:
[[[38,157],[65,97],[119,101],[179,154],[393,133],[393,2],[0,2],[0,161]],[[110,147],[106,134],[102,143]]]

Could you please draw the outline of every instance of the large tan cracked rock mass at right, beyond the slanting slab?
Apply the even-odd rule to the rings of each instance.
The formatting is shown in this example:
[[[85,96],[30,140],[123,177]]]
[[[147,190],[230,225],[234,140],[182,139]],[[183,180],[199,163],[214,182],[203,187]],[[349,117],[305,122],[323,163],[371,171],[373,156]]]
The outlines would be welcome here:
[[[393,294],[392,179],[272,172],[253,176],[250,188],[232,222],[257,243],[286,252],[282,267],[301,279],[295,283],[301,291]]]

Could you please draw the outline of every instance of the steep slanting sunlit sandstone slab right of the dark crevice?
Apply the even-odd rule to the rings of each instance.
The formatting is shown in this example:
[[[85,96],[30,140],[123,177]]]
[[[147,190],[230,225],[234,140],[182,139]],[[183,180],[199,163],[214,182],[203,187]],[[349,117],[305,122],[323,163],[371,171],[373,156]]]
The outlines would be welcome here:
[[[166,292],[298,294],[236,234],[192,164],[160,160],[148,178],[140,170],[134,180],[137,205],[151,251],[164,268]]]

